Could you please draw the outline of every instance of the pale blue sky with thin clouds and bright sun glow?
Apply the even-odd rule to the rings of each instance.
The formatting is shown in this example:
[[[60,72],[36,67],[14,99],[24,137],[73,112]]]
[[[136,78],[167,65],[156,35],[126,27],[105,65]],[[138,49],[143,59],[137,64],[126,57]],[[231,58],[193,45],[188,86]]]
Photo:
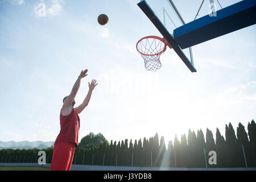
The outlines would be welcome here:
[[[98,85],[80,114],[79,140],[90,132],[109,142],[158,133],[167,143],[189,129],[208,128],[215,136],[217,127],[225,137],[229,122],[247,131],[256,113],[255,25],[193,46],[196,73],[171,49],[160,57],[163,66],[150,72],[135,45],[162,35],[138,2],[1,0],[0,140],[54,141],[62,100],[84,69],[76,105],[88,82]],[[174,3],[191,22],[201,1]],[[198,18],[208,12],[205,2]],[[102,13],[109,17],[105,26],[97,22]]]

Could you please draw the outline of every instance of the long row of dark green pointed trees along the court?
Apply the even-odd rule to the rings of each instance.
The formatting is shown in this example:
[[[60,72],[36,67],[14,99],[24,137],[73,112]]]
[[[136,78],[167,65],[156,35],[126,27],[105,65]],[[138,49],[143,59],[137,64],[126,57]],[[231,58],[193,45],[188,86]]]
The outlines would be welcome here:
[[[204,137],[203,131],[188,131],[188,137],[181,135],[179,140],[175,135],[166,147],[164,137],[156,133],[149,139],[114,141],[108,140],[102,134],[90,133],[81,139],[75,150],[73,164],[93,164],[106,166],[156,166],[156,167],[205,167],[205,154],[210,158],[209,151],[216,151],[217,164],[208,167],[245,167],[245,156],[248,167],[256,167],[256,124],[253,121],[245,127],[239,123],[237,135],[231,123],[225,126],[225,138],[216,130],[209,129]],[[100,142],[98,142],[100,140]],[[92,142],[93,141],[93,142]],[[242,146],[245,151],[243,155]],[[47,163],[51,163],[53,147],[47,148]],[[0,162],[32,162],[38,158],[39,149],[30,150],[0,150]],[[18,157],[17,157],[18,156]],[[2,160],[1,160],[2,157]],[[33,159],[34,157],[34,159]],[[31,158],[31,159],[30,159]],[[31,160],[31,161],[30,161]],[[36,161],[37,162],[37,161]]]

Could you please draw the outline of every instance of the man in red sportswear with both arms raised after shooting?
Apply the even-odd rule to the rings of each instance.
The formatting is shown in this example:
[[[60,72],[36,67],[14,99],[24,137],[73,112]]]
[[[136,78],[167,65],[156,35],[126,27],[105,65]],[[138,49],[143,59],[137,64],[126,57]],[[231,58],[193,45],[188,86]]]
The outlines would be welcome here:
[[[87,76],[87,72],[88,69],[81,71],[71,93],[63,99],[63,106],[60,110],[60,133],[53,147],[51,171],[70,171],[71,169],[73,155],[79,141],[80,118],[78,114],[88,105],[92,91],[98,85],[96,80],[88,82],[89,91],[84,102],[73,108],[76,104],[75,97],[80,87],[81,78]]]

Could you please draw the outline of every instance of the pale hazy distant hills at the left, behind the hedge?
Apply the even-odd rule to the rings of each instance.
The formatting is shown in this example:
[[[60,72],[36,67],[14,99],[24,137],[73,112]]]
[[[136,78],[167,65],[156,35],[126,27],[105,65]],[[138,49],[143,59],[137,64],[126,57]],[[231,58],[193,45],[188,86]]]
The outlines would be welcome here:
[[[51,141],[51,142],[42,142],[42,141],[2,142],[2,141],[0,141],[0,149],[3,149],[3,148],[13,148],[13,149],[39,148],[39,149],[43,149],[43,148],[51,147],[53,145],[53,143],[54,143],[53,141]]]

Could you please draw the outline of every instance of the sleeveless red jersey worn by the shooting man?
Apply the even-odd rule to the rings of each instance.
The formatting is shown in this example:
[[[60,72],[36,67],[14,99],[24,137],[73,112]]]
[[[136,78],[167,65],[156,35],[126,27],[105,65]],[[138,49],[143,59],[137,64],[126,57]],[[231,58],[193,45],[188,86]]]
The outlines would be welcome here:
[[[78,146],[80,118],[73,108],[71,113],[63,116],[60,110],[60,133],[54,144],[73,142]]]

